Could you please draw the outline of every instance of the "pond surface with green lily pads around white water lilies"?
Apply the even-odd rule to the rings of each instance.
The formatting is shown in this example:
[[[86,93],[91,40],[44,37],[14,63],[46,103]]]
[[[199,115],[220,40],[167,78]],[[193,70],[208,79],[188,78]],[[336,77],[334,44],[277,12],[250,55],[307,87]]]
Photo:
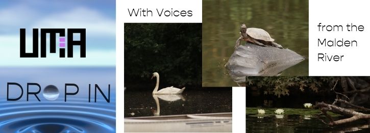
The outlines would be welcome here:
[[[258,115],[259,108],[246,108],[247,132],[341,132],[356,131],[369,132],[369,124],[357,121],[351,124],[328,126],[320,119],[327,120],[324,116],[316,117],[320,111],[311,109],[284,109],[284,115],[275,115],[275,109],[264,109],[265,115]],[[330,114],[334,120],[345,117]],[[327,121],[326,121],[327,122]]]

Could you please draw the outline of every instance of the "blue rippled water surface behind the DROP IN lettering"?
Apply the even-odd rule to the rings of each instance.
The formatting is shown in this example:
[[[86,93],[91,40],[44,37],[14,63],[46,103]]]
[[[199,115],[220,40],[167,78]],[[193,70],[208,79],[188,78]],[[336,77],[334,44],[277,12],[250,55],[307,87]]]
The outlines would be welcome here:
[[[115,68],[1,68],[0,69],[0,132],[115,132]],[[23,96],[17,101],[7,101],[7,83],[18,83],[23,87]],[[29,95],[27,83],[37,83],[41,92]],[[64,100],[64,84],[79,87],[76,95],[67,95]],[[88,101],[88,84],[91,88],[91,102]],[[94,88],[97,84],[110,102],[97,91],[94,102]],[[47,85],[55,85],[60,95],[48,101],[42,95]],[[9,96],[16,98],[20,89],[11,86]],[[38,87],[30,86],[30,92]],[[68,87],[67,92],[76,88]]]

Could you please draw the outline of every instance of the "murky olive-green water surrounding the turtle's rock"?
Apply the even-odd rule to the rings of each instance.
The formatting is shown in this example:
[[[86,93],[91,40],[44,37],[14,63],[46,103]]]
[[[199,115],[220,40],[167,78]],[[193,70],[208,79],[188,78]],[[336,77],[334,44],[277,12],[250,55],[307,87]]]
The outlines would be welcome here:
[[[308,75],[308,1],[203,1],[202,85],[238,86],[224,68],[240,24],[267,31],[284,48],[306,57],[281,75]]]

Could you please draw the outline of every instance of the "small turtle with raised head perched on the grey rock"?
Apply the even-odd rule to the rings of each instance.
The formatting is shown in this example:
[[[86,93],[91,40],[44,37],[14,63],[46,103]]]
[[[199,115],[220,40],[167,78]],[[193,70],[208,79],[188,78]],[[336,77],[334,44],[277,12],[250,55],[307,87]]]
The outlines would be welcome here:
[[[245,24],[240,26],[241,36],[236,40],[235,49],[239,47],[241,39],[246,42],[251,42],[260,46],[274,46],[283,48],[278,43],[274,42],[274,39],[263,29],[259,28],[246,28]]]

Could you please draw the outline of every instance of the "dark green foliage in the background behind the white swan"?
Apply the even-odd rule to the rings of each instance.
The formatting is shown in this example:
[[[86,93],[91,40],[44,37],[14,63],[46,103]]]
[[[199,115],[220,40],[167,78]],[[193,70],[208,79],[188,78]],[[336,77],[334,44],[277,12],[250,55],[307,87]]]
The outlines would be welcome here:
[[[125,23],[125,86],[150,80],[173,86],[200,85],[201,23]]]

